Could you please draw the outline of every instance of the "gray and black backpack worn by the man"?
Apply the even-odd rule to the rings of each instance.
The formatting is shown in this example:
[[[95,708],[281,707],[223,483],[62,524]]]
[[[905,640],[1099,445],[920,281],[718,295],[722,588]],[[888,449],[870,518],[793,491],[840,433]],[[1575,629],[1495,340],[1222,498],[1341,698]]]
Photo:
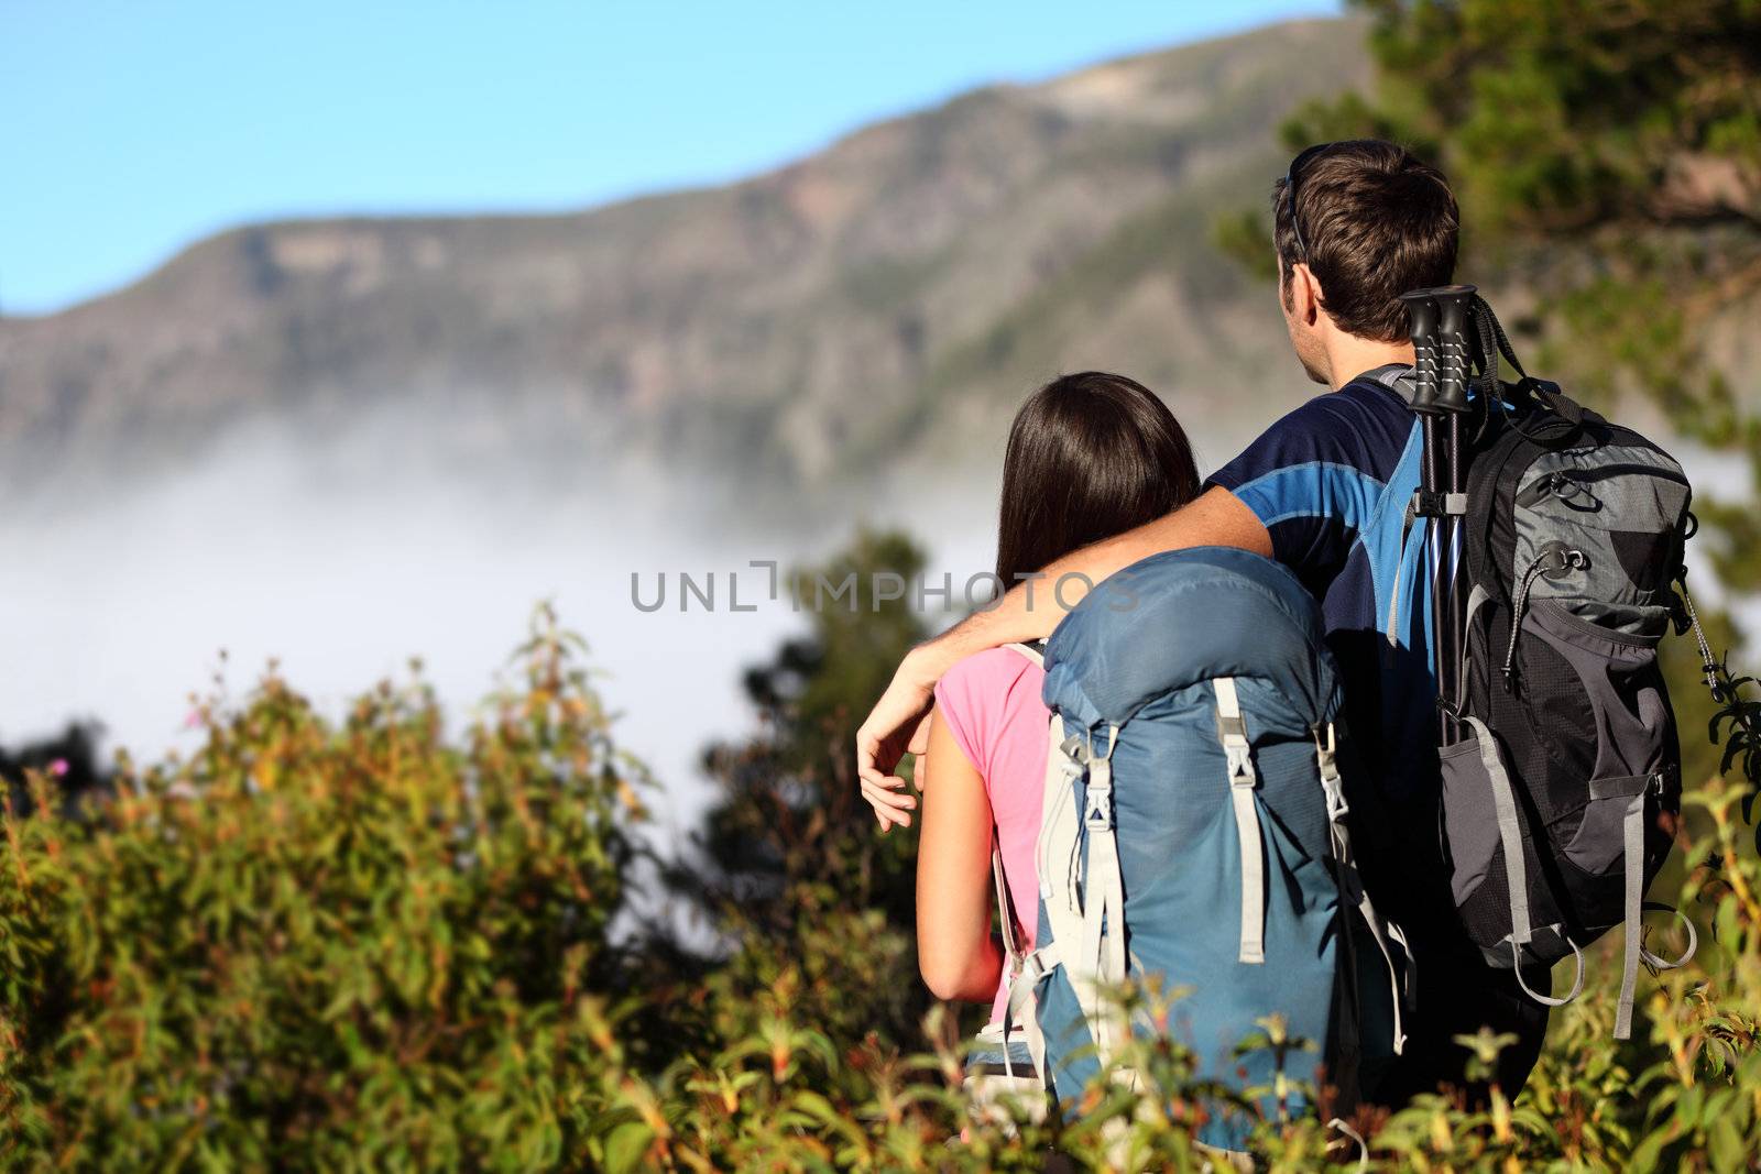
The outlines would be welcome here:
[[[1500,343],[1502,343],[1502,331]],[[1514,356],[1506,350],[1514,364]],[[1518,373],[1522,368],[1518,366]],[[1481,384],[1463,556],[1469,583],[1455,713],[1470,732],[1442,752],[1442,847],[1451,894],[1486,961],[1514,970],[1578,961],[1625,928],[1615,1035],[1632,1030],[1645,949],[1645,889],[1669,852],[1682,752],[1657,644],[1687,627],[1682,547],[1691,491],[1682,466],[1523,375]]]

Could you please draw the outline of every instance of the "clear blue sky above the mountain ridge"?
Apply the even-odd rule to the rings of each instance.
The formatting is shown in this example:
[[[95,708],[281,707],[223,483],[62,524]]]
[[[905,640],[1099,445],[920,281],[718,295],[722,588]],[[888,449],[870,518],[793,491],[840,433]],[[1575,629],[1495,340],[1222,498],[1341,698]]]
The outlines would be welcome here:
[[[248,220],[717,183],[986,81],[1337,9],[0,0],[0,313]]]

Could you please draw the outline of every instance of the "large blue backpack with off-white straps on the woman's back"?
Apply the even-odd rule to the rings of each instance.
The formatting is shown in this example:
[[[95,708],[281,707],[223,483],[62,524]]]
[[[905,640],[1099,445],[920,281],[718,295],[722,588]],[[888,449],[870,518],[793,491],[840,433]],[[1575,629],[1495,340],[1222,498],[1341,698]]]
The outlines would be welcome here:
[[[1044,665],[1039,933],[1034,952],[1011,950],[1009,998],[1035,1079],[1069,1111],[1127,1031],[1157,1031],[1127,1024],[1113,991],[1157,979],[1189,991],[1166,1031],[1201,1079],[1315,1084],[1324,1061],[1352,1104],[1361,1054],[1404,1044],[1405,938],[1352,864],[1340,683],[1314,598],[1247,551],[1157,554],[1090,591]],[[1359,949],[1379,956],[1379,998]],[[1273,1014],[1310,1049],[1240,1053]],[[1268,1095],[1261,1109],[1280,1107]],[[1293,1093],[1282,1109],[1310,1105]],[[1213,1107],[1199,1141],[1240,1149],[1249,1126]]]

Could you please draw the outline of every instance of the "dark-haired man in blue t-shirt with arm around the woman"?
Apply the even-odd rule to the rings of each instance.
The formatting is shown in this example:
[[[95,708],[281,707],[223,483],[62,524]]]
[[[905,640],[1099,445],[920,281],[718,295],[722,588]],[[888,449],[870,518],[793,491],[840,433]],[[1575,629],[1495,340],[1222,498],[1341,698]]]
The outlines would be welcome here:
[[[1160,551],[1233,546],[1286,563],[1321,602],[1345,681],[1351,736],[1375,797],[1358,810],[1365,880],[1412,938],[1418,1009],[1405,1056],[1367,1090],[1398,1105],[1460,1086],[1481,1026],[1518,1044],[1497,1079],[1514,1095],[1546,1033],[1546,1007],[1463,938],[1437,848],[1435,681],[1419,544],[1404,549],[1418,488],[1412,410],[1398,377],[1412,364],[1400,294],[1449,283],[1458,211],[1444,176],[1391,143],[1308,148],[1273,188],[1278,301],[1291,345],[1321,394],[1219,470],[1190,505],[1044,569],[1044,581],[912,649],[858,732],[858,773],[882,831],[909,824],[916,799],[889,774],[921,750],[935,681],[958,660],[1050,635],[1087,584]],[[1062,590],[1051,590],[1060,583]],[[1201,618],[1196,618],[1201,621]],[[917,780],[919,787],[926,780]],[[1546,991],[1546,975],[1529,975]],[[1479,1090],[1474,1090],[1479,1091]]]

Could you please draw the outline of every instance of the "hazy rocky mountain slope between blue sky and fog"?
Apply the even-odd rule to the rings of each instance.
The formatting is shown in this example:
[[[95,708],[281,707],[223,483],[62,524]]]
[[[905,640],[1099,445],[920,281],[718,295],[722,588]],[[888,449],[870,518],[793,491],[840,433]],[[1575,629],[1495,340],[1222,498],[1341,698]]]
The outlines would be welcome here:
[[[0,488],[125,484],[252,429],[321,465],[379,421],[356,456],[380,472],[799,495],[902,451],[993,461],[1020,396],[1083,366],[1155,385],[1217,459],[1307,389],[1212,218],[1264,197],[1293,104],[1365,77],[1361,37],[1291,23],[993,86],[579,215],[241,227],[0,319]]]

